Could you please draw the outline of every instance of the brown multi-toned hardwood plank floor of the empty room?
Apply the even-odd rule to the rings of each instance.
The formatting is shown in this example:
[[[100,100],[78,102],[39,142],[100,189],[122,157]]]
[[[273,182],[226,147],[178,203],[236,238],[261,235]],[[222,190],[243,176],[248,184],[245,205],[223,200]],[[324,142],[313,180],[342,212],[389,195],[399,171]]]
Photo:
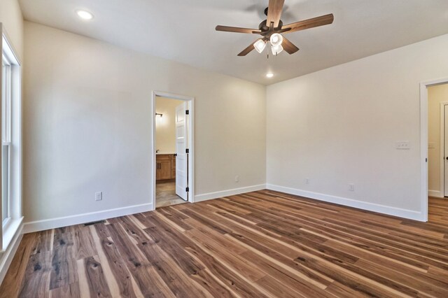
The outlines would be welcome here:
[[[263,190],[26,234],[0,297],[448,297],[430,222]]]

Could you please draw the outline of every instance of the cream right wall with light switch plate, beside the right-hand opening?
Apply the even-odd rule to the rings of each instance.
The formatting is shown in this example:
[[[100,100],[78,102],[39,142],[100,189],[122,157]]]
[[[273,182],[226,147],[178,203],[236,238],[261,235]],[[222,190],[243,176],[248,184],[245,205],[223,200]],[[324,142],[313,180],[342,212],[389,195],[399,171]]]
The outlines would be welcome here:
[[[447,48],[444,35],[267,87],[268,186],[421,219],[419,83],[448,78]]]

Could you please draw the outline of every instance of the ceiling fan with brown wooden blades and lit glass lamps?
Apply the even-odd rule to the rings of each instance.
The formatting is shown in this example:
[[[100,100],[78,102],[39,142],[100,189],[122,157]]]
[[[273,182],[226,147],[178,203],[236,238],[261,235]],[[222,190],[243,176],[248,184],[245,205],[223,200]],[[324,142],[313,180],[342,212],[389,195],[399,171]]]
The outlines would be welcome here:
[[[269,0],[269,6],[265,9],[267,20],[262,21],[258,25],[258,29],[248,29],[239,27],[216,26],[216,31],[237,32],[248,34],[260,34],[262,37],[258,38],[255,43],[252,43],[247,48],[242,50],[238,56],[246,56],[253,49],[257,52],[265,50],[267,43],[271,44],[273,55],[278,55],[285,50],[288,54],[294,54],[299,50],[293,43],[281,34],[292,33],[304,29],[314,28],[331,24],[334,20],[332,13],[328,15],[321,15],[320,17],[313,17],[312,19],[295,22],[292,24],[283,25],[281,22],[281,11],[283,10],[283,3],[285,0]]]

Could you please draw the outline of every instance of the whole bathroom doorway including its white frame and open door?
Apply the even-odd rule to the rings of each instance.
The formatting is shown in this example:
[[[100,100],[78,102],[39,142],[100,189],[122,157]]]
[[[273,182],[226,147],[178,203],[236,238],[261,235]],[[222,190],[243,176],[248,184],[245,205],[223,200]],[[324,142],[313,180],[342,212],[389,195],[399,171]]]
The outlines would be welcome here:
[[[193,98],[153,92],[153,209],[193,202]]]

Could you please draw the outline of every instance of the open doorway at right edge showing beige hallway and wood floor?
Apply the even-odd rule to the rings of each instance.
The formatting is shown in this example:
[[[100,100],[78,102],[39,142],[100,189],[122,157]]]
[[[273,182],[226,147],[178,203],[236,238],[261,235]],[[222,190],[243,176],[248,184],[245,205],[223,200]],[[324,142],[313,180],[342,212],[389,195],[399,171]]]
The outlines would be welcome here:
[[[448,84],[428,87],[428,222],[448,224]]]

